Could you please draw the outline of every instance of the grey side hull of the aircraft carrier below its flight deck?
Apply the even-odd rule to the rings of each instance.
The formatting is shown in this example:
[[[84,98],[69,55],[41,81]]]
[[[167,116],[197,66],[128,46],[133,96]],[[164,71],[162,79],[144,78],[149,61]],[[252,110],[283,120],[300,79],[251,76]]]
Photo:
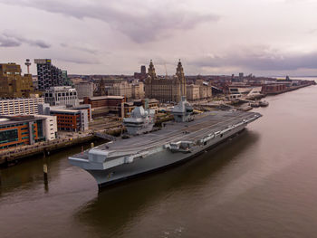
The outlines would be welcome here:
[[[95,180],[98,183],[98,186],[100,187],[109,186],[134,176],[147,174],[155,170],[159,170],[165,167],[176,165],[181,162],[185,162],[187,161],[187,159],[197,157],[200,153],[205,152],[208,148],[215,147],[217,144],[223,142],[227,138],[231,138],[235,136],[235,134],[245,129],[245,126],[248,123],[254,121],[255,119],[258,119],[261,116],[260,114],[250,113],[250,112],[247,113],[248,117],[243,117],[241,115],[244,115],[244,114],[240,114],[239,112],[239,117],[236,117],[236,119],[228,120],[226,119],[226,117],[222,118],[222,119],[226,119],[227,122],[220,121],[216,123],[216,124],[220,123],[220,126],[206,128],[206,130],[202,129],[204,130],[204,132],[199,132],[198,137],[197,135],[195,135],[194,138],[198,140],[201,138],[208,138],[208,136],[209,138],[206,139],[206,141],[204,141],[203,143],[195,143],[188,150],[173,151],[170,148],[164,148],[163,145],[166,145],[167,142],[169,142],[170,140],[175,141],[176,139],[179,139],[179,137],[175,139],[168,138],[165,141],[162,139],[161,143],[159,143],[159,145],[156,145],[154,148],[153,147],[143,148],[143,150],[139,149],[139,151],[141,150],[152,151],[151,153],[144,154],[143,156],[140,156],[140,157],[136,157],[133,159],[132,162],[125,162],[118,166],[107,168],[104,166],[105,164],[103,163],[103,167],[98,167],[98,166],[95,166],[95,165],[99,165],[98,163],[95,163],[94,165],[93,162],[89,161],[87,157],[81,157],[81,156],[70,157],[70,162],[74,166],[82,167],[85,170],[87,170],[91,174],[91,176],[95,178]],[[235,122],[234,126],[232,125],[233,122]],[[231,128],[228,128],[229,126]],[[195,132],[193,132],[192,134],[195,134]],[[211,134],[213,136],[211,136],[210,138]],[[142,136],[139,136],[139,139],[142,139],[140,137]],[[184,140],[186,138],[190,138],[190,136],[182,136],[180,138],[183,138]],[[193,138],[193,136],[191,136],[191,138]],[[118,143],[120,142],[117,142],[117,144]],[[155,143],[158,143],[158,142],[156,141]],[[123,149],[124,148],[122,148],[122,150]]]

